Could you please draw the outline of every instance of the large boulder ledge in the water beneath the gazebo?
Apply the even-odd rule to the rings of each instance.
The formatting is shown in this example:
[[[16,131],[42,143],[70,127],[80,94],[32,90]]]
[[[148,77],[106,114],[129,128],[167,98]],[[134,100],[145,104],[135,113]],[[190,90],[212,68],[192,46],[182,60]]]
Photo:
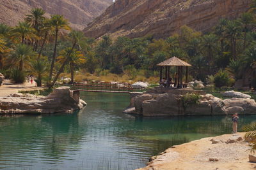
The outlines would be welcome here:
[[[196,104],[186,104],[182,101],[185,94],[198,94],[200,100]],[[161,89],[132,94],[131,104],[124,113],[135,113],[143,116],[179,116],[179,115],[228,115],[256,114],[255,100],[236,98],[222,100],[201,90],[191,89]]]

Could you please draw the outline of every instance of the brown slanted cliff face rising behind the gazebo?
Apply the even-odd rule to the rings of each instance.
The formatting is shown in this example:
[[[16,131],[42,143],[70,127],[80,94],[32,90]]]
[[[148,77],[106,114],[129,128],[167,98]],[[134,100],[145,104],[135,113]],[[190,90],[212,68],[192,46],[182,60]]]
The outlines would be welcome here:
[[[105,34],[136,38],[153,34],[164,38],[182,25],[208,31],[220,18],[247,11],[250,0],[117,0],[84,29],[86,36]]]

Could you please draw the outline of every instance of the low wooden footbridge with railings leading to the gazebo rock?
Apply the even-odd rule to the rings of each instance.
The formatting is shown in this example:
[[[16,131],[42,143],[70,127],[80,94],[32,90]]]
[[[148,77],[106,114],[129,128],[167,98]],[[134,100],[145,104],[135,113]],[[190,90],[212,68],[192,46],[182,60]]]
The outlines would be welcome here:
[[[61,84],[56,83],[56,87],[69,86],[71,90],[82,91],[82,92],[108,92],[108,93],[126,93],[131,94],[132,92],[143,92],[143,88],[134,88],[127,83],[118,82],[96,82],[96,81],[81,81],[73,84]]]

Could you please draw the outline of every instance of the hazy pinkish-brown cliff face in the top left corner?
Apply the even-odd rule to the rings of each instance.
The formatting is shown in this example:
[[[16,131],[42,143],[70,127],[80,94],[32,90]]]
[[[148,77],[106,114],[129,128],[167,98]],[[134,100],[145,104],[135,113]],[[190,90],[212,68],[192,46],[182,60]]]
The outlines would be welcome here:
[[[15,25],[31,8],[43,8],[47,15],[64,15],[70,25],[83,29],[112,4],[112,0],[1,0],[0,22]]]

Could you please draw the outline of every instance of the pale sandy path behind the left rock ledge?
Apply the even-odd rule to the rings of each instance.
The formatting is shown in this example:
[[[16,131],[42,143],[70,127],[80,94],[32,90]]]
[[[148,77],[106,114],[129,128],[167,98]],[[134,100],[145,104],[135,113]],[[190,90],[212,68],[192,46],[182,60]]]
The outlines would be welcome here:
[[[33,84],[25,82],[23,84],[12,84],[10,81],[4,80],[4,84],[0,86],[0,97],[6,97],[10,94],[17,93],[19,90],[40,90],[44,87],[36,87],[35,81]]]

